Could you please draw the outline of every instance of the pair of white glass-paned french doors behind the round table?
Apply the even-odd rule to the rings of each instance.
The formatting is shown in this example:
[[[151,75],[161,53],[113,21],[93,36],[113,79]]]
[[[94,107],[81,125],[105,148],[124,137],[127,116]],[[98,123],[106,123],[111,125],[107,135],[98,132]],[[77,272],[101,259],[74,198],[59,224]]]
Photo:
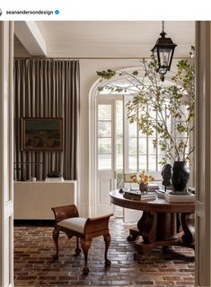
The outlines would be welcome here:
[[[162,167],[158,161],[163,154],[161,150],[154,150],[153,146],[157,135],[143,135],[136,123],[129,123],[128,100],[131,100],[131,96],[100,94],[97,97],[97,214],[112,211],[109,192],[128,187],[123,179],[125,173],[145,170],[150,171],[155,178],[161,175]],[[136,219],[136,212],[124,210],[125,222]]]

